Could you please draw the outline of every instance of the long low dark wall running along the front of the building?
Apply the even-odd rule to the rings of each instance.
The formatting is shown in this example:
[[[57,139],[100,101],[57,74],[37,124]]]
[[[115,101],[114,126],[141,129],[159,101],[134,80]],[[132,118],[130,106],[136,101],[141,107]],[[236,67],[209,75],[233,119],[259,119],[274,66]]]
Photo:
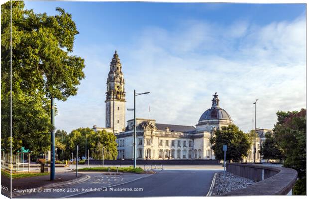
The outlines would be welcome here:
[[[87,160],[85,162],[87,164]],[[219,160],[136,160],[137,165],[221,165]],[[102,160],[89,160],[89,165],[102,165]],[[133,165],[133,160],[104,160],[104,165]]]

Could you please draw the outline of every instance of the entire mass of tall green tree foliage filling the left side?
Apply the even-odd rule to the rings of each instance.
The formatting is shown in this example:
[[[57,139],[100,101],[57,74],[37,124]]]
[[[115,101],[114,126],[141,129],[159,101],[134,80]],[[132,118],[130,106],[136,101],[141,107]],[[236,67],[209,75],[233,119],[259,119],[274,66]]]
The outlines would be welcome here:
[[[77,85],[84,78],[84,60],[72,55],[78,33],[76,25],[70,14],[62,8],[56,10],[59,14],[55,16],[36,14],[33,10],[25,10],[22,1],[12,2],[12,131],[15,151],[27,142],[30,144],[26,147],[31,151],[38,150],[36,141],[48,137],[40,133],[53,128],[48,119],[51,114],[48,111],[50,100],[47,99],[67,100],[77,93]],[[1,130],[4,130],[1,139],[10,140],[7,116],[10,108],[10,2],[1,6],[1,19],[1,110],[6,114],[1,115],[1,122],[6,124],[3,128],[1,125]],[[37,110],[34,112],[29,107]],[[21,114],[31,120],[31,125],[19,118]],[[45,145],[48,143],[48,140],[44,142]]]

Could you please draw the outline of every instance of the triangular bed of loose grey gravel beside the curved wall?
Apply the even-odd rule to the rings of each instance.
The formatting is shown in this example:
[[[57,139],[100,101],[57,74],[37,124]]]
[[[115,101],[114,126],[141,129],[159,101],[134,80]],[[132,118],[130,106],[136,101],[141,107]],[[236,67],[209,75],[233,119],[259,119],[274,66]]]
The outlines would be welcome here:
[[[223,195],[255,183],[253,180],[237,176],[230,172],[226,172],[226,176],[224,176],[224,172],[218,172],[211,196]]]

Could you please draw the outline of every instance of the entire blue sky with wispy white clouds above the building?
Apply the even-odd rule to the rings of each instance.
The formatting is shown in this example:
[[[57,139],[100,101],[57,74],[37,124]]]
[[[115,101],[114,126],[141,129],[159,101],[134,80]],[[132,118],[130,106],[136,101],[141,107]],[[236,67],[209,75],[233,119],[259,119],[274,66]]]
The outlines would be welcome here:
[[[57,101],[56,128],[105,126],[109,63],[117,49],[137,117],[196,125],[218,92],[241,130],[272,128],[278,110],[306,107],[304,4],[117,3],[25,1],[27,9],[72,14],[74,52],[86,78],[76,96]],[[150,105],[150,116],[148,113]],[[133,117],[127,112],[126,120]]]

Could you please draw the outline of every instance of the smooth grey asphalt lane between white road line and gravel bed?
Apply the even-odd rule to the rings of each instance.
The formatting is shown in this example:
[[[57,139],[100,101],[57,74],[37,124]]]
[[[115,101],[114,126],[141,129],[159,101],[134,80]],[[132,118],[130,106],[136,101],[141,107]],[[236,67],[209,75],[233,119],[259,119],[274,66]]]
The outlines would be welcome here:
[[[102,191],[82,193],[74,197],[206,196],[215,172],[209,170],[163,170],[124,185]]]

